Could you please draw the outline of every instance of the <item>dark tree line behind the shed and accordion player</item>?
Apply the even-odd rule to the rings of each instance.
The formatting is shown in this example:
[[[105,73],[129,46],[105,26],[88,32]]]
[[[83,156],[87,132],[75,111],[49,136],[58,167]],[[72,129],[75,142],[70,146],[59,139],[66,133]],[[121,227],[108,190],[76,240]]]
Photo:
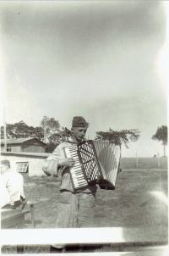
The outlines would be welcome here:
[[[124,144],[127,148],[129,142],[137,142],[140,136],[138,129],[113,131],[110,128],[106,132],[96,131],[95,133],[95,140],[106,140],[120,145],[120,147]],[[58,144],[68,140],[73,131],[67,127],[62,127],[58,120],[44,116],[40,126],[37,127],[26,125],[23,120],[15,124],[6,124],[6,134],[8,139],[36,137],[40,141],[46,142],[46,153],[52,153]],[[1,126],[1,138],[4,138],[3,126]]]

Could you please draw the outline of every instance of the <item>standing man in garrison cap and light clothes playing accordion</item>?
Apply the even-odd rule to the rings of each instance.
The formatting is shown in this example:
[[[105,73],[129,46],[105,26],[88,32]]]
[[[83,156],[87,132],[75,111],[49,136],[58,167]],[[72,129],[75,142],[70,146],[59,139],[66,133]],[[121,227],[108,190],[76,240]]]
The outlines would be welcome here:
[[[84,141],[88,124],[81,116],[75,116],[72,122],[74,135],[57,146],[43,166],[46,175],[62,175],[60,197],[57,209],[56,228],[92,227],[95,214],[96,185],[88,185],[74,190],[70,168],[74,166],[73,158],[65,158],[64,148]],[[64,244],[54,244],[51,252],[59,252]]]

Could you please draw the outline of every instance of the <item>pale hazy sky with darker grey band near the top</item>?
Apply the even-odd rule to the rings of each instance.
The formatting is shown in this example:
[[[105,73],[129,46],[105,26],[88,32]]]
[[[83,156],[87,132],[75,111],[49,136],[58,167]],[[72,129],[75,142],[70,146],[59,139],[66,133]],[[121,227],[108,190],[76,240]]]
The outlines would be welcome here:
[[[71,128],[139,129],[123,157],[163,155],[167,125],[165,1],[0,2],[2,109],[7,123],[44,115]],[[3,124],[3,123],[2,123]]]

